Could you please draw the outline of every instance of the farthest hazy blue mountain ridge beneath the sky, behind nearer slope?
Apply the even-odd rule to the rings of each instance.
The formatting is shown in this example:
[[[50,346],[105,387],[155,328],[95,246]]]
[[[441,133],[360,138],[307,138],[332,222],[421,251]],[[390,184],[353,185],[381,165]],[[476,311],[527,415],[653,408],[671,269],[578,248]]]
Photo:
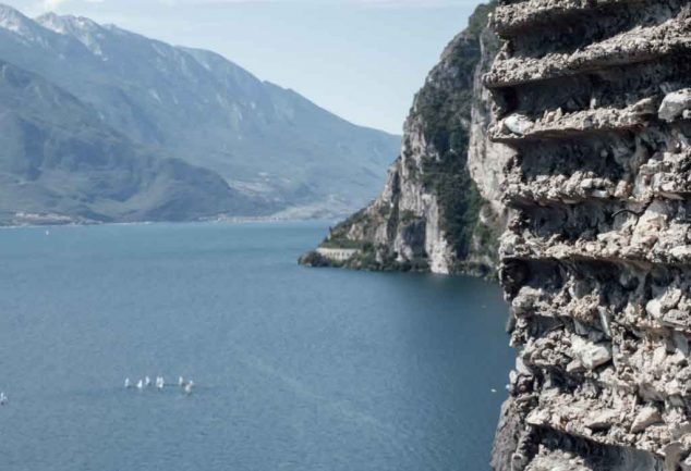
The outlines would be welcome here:
[[[0,59],[74,95],[132,141],[295,214],[365,203],[400,146],[221,55],[84,17],[32,20],[0,5]]]

